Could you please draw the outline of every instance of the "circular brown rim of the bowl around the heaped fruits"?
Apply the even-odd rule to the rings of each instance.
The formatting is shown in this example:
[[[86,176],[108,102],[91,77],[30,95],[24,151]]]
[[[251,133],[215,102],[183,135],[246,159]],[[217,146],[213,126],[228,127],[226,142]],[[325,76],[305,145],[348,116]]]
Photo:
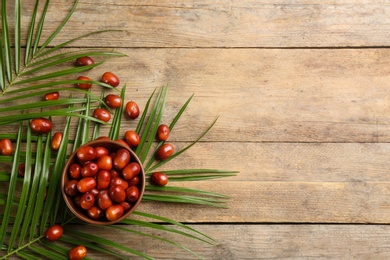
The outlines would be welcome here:
[[[94,220],[94,219],[91,219],[89,218],[87,215],[85,215],[84,213],[81,212],[81,210],[78,210],[77,209],[77,206],[74,204],[73,200],[72,200],[72,197],[67,195],[64,191],[64,187],[65,187],[65,182],[67,180],[69,180],[69,176],[68,176],[68,168],[69,166],[75,162],[75,157],[77,156],[77,150],[82,147],[82,146],[86,146],[86,145],[89,145],[89,146],[92,146],[92,147],[98,147],[98,146],[102,146],[102,147],[105,147],[103,144],[111,144],[113,146],[118,146],[118,149],[120,148],[124,148],[126,150],[128,150],[131,154],[131,160],[132,161],[135,161],[137,162],[139,165],[140,165],[140,173],[138,176],[140,176],[140,185],[137,185],[138,188],[139,188],[139,198],[138,200],[132,204],[131,208],[126,211],[120,218],[116,219],[116,220],[113,220],[113,221],[98,221],[98,220]],[[61,193],[62,193],[62,197],[65,201],[65,204],[67,205],[68,209],[80,220],[84,221],[84,222],[87,222],[89,224],[95,224],[95,225],[111,225],[111,224],[114,224],[114,223],[117,223],[117,222],[120,222],[122,221],[123,219],[127,218],[128,216],[131,215],[131,213],[138,207],[138,205],[140,204],[141,200],[142,200],[142,197],[144,195],[144,191],[145,191],[145,185],[146,185],[146,175],[145,175],[145,171],[144,171],[144,168],[143,168],[143,165],[141,163],[141,160],[138,158],[138,156],[135,154],[135,152],[125,146],[124,144],[121,144],[120,142],[117,142],[117,141],[114,141],[114,140],[109,140],[109,139],[98,139],[98,140],[93,140],[93,141],[89,141],[85,144],[82,144],[80,145],[67,159],[66,161],[66,164],[62,170],[62,176],[61,176]]]

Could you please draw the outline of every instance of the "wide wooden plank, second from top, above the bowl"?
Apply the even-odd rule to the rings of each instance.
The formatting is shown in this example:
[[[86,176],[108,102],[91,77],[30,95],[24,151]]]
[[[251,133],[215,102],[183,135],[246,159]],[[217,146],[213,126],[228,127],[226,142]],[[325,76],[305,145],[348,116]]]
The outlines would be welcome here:
[[[174,140],[194,140],[194,126],[206,129],[220,116],[204,140],[390,141],[388,49],[122,51],[128,57],[85,75],[99,80],[116,72],[128,86],[126,100],[141,108],[156,87],[169,84],[165,121],[195,93]]]

